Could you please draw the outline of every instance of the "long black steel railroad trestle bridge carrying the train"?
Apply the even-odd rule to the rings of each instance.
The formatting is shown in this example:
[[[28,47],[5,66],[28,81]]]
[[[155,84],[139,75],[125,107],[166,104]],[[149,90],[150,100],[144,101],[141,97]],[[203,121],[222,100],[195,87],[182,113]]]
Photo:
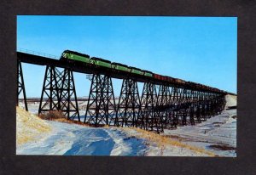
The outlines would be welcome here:
[[[26,110],[21,62],[46,66],[38,114],[61,110],[69,120],[82,120],[73,72],[92,75],[83,121],[96,127],[141,127],[160,133],[165,128],[178,125],[195,125],[224,110],[227,92],[192,82],[166,82],[106,67],[74,65],[45,55],[24,52],[17,52],[17,62],[17,105],[19,95],[23,93]],[[113,93],[112,78],[123,80],[118,102]],[[142,95],[139,95],[137,82],[143,82]]]

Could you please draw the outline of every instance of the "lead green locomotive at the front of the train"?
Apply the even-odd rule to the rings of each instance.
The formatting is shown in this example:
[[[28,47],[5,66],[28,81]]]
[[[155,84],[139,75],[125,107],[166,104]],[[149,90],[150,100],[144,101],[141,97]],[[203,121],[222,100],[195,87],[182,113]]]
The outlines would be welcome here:
[[[84,63],[90,63],[90,56],[88,54],[80,54],[71,50],[65,50],[61,54],[61,60],[68,61],[80,61]]]

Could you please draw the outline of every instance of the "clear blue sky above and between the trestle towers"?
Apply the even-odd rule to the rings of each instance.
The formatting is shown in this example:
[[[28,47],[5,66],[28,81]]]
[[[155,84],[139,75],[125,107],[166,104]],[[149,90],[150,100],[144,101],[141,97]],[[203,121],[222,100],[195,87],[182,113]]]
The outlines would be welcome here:
[[[236,93],[236,17],[19,15],[17,48],[58,57],[70,49]],[[45,67],[22,68],[27,96],[39,97]],[[89,80],[74,76],[78,96],[88,96]],[[116,96],[120,87],[113,80]]]

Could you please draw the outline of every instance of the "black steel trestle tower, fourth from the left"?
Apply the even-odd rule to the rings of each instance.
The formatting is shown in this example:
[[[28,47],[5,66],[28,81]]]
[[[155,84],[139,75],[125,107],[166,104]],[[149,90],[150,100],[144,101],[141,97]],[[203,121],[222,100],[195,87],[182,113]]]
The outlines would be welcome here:
[[[137,82],[133,79],[125,78],[119,96],[115,125],[137,127],[137,121],[142,121],[141,99]]]

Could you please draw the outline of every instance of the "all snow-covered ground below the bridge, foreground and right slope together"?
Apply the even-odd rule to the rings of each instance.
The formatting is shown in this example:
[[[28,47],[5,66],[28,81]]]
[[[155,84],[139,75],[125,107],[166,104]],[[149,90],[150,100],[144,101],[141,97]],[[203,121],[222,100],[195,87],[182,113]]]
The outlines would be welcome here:
[[[236,96],[228,95],[226,100],[226,107],[236,105]],[[29,104],[28,108],[34,114],[38,112],[38,104]],[[143,138],[132,128],[94,128],[57,121],[44,122],[51,127],[51,132],[42,133],[25,144],[17,144],[17,155],[236,156],[236,109],[224,110],[221,115],[195,126],[177,127],[161,134],[189,146],[160,144]]]

